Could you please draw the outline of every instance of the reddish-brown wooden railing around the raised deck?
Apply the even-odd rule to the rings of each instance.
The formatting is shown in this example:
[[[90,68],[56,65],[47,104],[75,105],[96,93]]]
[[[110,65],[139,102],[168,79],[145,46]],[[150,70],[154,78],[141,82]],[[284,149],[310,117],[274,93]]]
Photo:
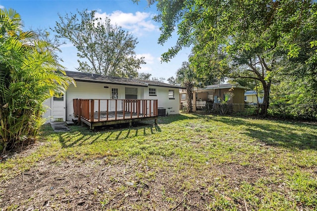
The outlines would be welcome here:
[[[90,122],[158,116],[158,100],[73,99],[74,116]],[[120,113],[120,117],[118,115]]]

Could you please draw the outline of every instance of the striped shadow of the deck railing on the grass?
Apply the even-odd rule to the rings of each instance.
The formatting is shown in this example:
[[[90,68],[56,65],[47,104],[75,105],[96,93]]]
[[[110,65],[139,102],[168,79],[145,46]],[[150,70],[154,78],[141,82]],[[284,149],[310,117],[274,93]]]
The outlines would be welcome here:
[[[148,136],[161,132],[161,129],[158,125],[144,123],[133,125],[134,127],[120,125],[112,126],[107,129],[99,128],[98,131],[86,130],[85,126],[71,126],[71,131],[67,133],[58,133],[59,142],[61,143],[62,148],[70,148],[91,145],[100,141],[119,141],[137,136]]]

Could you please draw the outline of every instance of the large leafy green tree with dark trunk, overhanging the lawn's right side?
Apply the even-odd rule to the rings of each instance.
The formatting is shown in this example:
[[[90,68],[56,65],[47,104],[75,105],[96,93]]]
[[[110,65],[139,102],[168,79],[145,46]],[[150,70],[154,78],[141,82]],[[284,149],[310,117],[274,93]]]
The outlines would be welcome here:
[[[314,36],[308,36],[313,55],[304,63],[317,57],[316,5],[313,0],[158,0],[159,44],[178,30],[175,46],[162,54],[162,60],[193,45],[190,61],[198,76],[259,81],[264,90],[261,113],[265,115],[272,81],[285,62],[301,54],[305,34]]]

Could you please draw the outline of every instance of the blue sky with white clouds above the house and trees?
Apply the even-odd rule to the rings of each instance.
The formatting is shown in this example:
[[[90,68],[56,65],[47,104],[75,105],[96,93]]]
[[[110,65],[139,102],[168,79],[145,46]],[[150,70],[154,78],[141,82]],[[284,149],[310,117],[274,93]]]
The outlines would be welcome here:
[[[164,46],[158,44],[159,24],[152,20],[157,14],[156,6],[147,7],[147,1],[135,4],[132,0],[0,0],[0,8],[13,8],[22,17],[26,30],[50,29],[59,20],[58,13],[97,10],[99,17],[109,17],[112,23],[131,32],[138,39],[135,49],[138,56],[144,56],[147,64],[139,72],[151,73],[152,77],[165,79],[174,76],[183,61],[188,60],[190,49],[184,49],[168,63],[161,63],[159,57],[176,42],[176,35]],[[78,67],[76,48],[66,44],[61,48],[62,65],[67,70],[76,71]]]

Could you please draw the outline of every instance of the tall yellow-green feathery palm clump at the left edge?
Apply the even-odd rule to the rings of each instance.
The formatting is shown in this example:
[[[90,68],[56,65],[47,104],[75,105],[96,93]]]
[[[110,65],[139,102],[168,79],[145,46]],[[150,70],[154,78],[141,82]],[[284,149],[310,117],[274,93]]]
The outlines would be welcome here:
[[[0,150],[34,140],[44,123],[43,102],[63,93],[73,79],[67,77],[33,31],[22,31],[20,15],[0,9]]]

